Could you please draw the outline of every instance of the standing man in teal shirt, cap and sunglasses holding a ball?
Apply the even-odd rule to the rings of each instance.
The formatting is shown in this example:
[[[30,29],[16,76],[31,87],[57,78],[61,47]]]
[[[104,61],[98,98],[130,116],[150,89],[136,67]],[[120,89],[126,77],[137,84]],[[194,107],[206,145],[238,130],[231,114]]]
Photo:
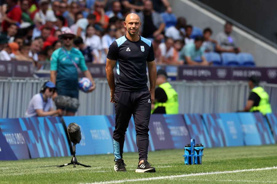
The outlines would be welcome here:
[[[63,47],[55,50],[50,59],[50,77],[51,81],[57,86],[58,95],[69,96],[70,98],[79,98],[78,91],[78,68],[83,72],[86,78],[90,79],[92,86],[88,90],[95,89],[94,80],[88,71],[85,58],[81,51],[73,47],[75,35],[70,29],[66,29],[60,35],[63,41]],[[77,109],[66,109],[66,116],[74,116]]]

